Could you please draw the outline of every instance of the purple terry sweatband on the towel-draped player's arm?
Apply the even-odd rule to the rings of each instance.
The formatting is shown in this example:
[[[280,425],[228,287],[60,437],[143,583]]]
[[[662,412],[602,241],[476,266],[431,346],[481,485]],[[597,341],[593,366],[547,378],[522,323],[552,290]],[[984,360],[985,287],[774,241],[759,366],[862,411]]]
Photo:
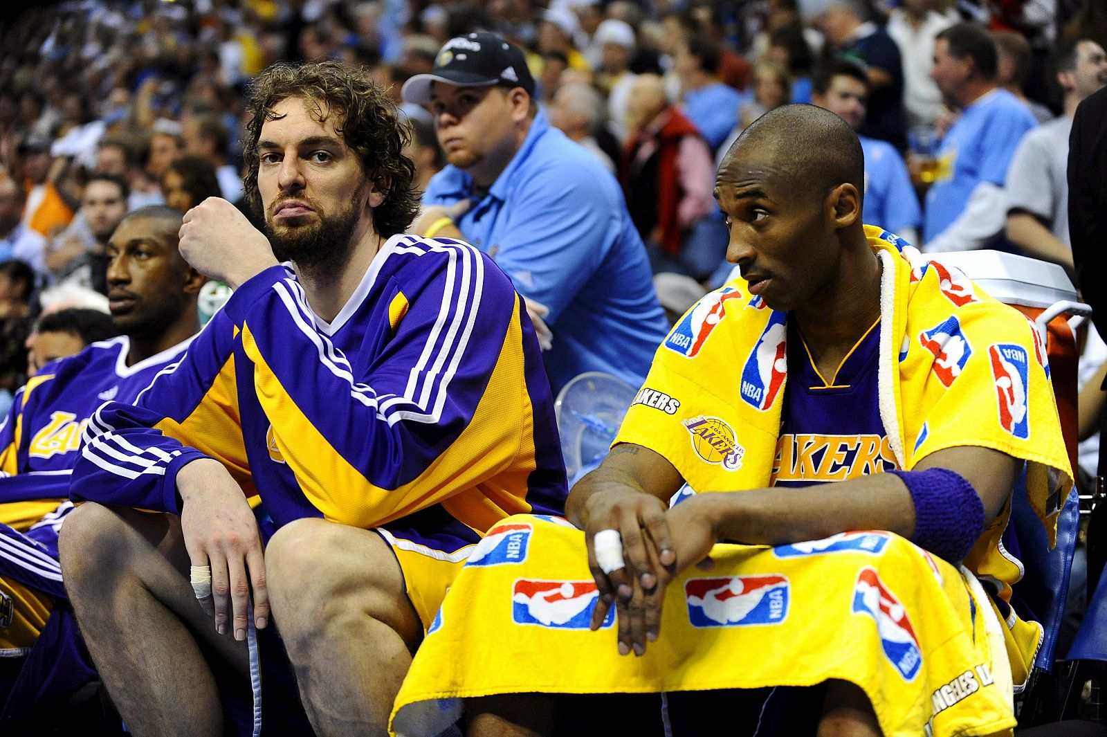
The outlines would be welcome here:
[[[911,542],[959,563],[984,531],[984,505],[964,476],[948,468],[888,471],[899,476],[914,502]]]

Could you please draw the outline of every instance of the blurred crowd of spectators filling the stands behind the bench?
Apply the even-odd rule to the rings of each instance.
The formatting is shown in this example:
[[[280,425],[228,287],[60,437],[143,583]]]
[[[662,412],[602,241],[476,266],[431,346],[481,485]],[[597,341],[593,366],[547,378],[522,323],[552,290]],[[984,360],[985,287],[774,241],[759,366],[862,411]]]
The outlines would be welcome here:
[[[431,113],[401,86],[452,37],[514,41],[550,123],[619,179],[654,271],[680,274],[659,283],[676,314],[728,271],[718,158],[790,102],[861,135],[867,221],[930,251],[1001,248],[1072,272],[1067,132],[1107,84],[1103,0],[82,0],[7,12],[0,394],[25,380],[43,309],[106,309],[104,248],[125,212],[242,203],[245,90],[278,60],[368,68],[412,124],[425,186],[445,160]]]

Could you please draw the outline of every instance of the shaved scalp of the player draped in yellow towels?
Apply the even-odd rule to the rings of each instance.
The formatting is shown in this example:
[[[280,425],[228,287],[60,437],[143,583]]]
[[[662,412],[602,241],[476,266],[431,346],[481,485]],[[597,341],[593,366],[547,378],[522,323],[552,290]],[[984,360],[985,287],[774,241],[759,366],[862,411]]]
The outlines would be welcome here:
[[[720,172],[743,154],[756,152],[773,159],[774,168],[793,191],[825,197],[841,184],[865,191],[865,154],[849,123],[814,105],[784,105],[754,121],[727,149]]]

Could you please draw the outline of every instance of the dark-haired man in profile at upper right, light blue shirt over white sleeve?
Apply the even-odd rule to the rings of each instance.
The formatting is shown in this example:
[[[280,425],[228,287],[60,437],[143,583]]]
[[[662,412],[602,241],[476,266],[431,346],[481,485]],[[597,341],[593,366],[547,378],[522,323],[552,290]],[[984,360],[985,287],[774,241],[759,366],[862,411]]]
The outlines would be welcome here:
[[[1037,121],[1017,97],[995,86],[996,60],[995,41],[972,23],[948,28],[934,41],[930,75],[945,104],[962,112],[942,138],[927,193],[928,252],[981,248],[1005,225],[1007,167]]]

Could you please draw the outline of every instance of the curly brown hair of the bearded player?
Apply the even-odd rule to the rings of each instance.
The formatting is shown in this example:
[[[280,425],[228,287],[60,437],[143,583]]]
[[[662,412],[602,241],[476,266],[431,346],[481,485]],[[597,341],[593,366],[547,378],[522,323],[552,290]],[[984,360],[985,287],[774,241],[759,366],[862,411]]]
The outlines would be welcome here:
[[[288,97],[314,103],[319,121],[338,115],[335,129],[358,155],[373,188],[384,194],[384,201],[373,208],[373,229],[385,238],[406,230],[420,207],[415,165],[404,156],[411,138],[408,126],[401,122],[395,103],[369,75],[334,62],[278,62],[254,81],[248,103],[251,120],[242,142],[242,185],[250,208],[263,217],[258,141],[261,126],[273,120],[273,107]]]

